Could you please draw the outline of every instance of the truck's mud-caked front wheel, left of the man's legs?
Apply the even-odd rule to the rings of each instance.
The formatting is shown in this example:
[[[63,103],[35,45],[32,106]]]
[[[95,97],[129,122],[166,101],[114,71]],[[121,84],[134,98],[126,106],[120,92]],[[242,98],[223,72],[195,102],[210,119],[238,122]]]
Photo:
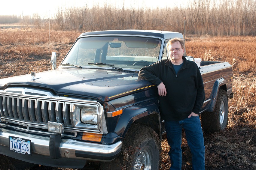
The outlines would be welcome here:
[[[154,130],[147,126],[133,125],[123,140],[126,170],[158,170],[161,141]]]

